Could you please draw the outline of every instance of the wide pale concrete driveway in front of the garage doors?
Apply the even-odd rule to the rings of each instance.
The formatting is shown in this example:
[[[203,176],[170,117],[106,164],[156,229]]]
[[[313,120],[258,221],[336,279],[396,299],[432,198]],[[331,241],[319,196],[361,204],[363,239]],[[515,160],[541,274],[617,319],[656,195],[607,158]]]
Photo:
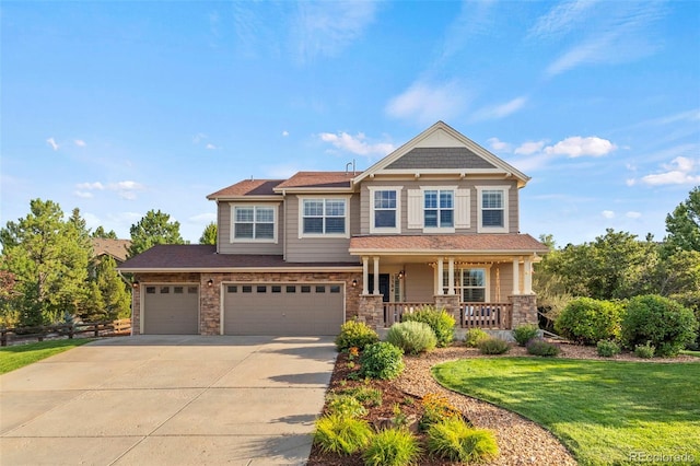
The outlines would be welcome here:
[[[0,464],[305,464],[334,361],[327,337],[95,341],[0,376]]]

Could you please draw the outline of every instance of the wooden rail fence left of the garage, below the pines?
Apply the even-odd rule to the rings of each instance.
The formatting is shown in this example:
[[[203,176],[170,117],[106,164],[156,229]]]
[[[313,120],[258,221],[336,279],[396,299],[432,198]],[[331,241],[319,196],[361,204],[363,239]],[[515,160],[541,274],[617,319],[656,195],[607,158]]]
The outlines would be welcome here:
[[[45,338],[69,339],[74,336],[114,337],[131,334],[131,319],[121,318],[113,322],[83,322],[80,324],[42,325],[37,327],[0,328],[0,346],[7,347],[13,341],[27,341]]]

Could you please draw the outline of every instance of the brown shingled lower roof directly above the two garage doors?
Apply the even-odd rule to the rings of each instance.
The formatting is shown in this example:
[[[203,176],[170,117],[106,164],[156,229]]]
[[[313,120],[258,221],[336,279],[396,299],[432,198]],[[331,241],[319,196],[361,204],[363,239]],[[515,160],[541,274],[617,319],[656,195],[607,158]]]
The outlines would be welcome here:
[[[281,255],[217,254],[217,247],[202,244],[160,244],[121,264],[126,272],[153,271],[257,271],[281,269],[283,271],[352,269],[361,270],[358,263],[285,263]]]

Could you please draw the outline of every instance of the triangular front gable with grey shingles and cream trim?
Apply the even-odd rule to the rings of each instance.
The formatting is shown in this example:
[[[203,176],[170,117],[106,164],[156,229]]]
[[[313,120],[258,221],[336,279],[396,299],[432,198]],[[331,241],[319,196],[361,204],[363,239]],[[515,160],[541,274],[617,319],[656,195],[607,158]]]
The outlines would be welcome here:
[[[401,174],[430,171],[430,173],[502,174],[513,176],[518,186],[529,177],[499,159],[481,145],[456,131],[443,121],[438,121],[354,178],[362,182],[378,174]]]

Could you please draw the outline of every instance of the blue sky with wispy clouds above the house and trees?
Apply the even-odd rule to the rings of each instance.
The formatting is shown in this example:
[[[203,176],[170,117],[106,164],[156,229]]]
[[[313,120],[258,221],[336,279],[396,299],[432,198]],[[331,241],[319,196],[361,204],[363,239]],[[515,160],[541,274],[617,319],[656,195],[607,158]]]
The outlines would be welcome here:
[[[521,229],[664,236],[700,185],[700,2],[3,1],[1,221],[33,198],[197,242],[243,178],[363,170],[443,120]]]

